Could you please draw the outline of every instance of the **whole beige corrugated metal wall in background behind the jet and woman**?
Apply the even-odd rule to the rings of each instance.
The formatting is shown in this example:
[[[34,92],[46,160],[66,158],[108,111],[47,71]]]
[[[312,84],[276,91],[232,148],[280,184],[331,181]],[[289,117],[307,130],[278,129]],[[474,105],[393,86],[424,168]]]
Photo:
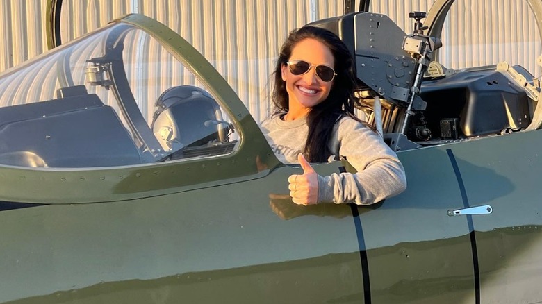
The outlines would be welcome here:
[[[201,51],[238,92],[256,121],[261,121],[270,110],[268,96],[274,58],[288,31],[316,19],[341,15],[343,2],[65,0],[61,31],[63,41],[67,41],[129,12],[153,17]],[[408,18],[408,12],[427,11],[432,2],[372,0],[370,10],[385,13],[404,31],[411,33],[413,22]],[[47,49],[44,12],[45,1],[0,0],[0,14],[4,20],[0,22],[3,37],[0,71]],[[479,18],[466,18],[473,14]],[[495,18],[500,22],[495,22]],[[507,58],[530,71],[539,72],[535,61],[542,52],[535,24],[524,0],[457,0],[443,32],[445,48],[441,52],[441,62],[457,68],[490,65]],[[477,46],[474,51],[466,48],[472,44]],[[167,71],[167,67],[164,70]]]

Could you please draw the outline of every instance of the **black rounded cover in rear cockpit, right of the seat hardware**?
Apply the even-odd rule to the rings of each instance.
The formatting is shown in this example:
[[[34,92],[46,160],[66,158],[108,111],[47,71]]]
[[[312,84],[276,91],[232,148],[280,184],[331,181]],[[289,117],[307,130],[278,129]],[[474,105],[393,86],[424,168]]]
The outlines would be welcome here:
[[[497,134],[527,128],[529,97],[499,71],[461,71],[424,81],[420,96],[427,102],[427,127],[438,134],[442,119],[459,118],[462,135]]]

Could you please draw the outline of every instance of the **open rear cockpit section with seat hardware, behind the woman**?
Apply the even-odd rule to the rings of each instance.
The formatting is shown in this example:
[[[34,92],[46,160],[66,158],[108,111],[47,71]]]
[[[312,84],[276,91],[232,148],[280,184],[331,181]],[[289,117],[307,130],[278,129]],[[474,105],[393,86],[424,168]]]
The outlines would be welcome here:
[[[450,42],[449,36],[443,37],[443,27],[452,27],[447,12],[464,5],[452,3],[427,14],[409,13],[413,33],[405,33],[386,15],[370,12],[313,23],[334,31],[349,47],[356,59],[361,110],[395,151],[541,127],[535,118],[542,112],[537,107],[540,81],[525,67],[500,58],[492,65],[453,69],[438,60],[441,38]],[[535,19],[540,23],[540,16]],[[450,47],[445,49],[450,53]],[[534,73],[540,71],[541,58],[531,58],[539,66],[531,67]]]

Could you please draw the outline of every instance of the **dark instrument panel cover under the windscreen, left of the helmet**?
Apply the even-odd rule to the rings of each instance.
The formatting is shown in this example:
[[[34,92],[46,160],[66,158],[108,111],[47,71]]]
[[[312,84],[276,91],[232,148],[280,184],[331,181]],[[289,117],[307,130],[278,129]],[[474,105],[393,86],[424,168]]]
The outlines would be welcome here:
[[[95,94],[0,108],[0,155],[21,152],[37,155],[48,167],[141,162],[115,110]]]

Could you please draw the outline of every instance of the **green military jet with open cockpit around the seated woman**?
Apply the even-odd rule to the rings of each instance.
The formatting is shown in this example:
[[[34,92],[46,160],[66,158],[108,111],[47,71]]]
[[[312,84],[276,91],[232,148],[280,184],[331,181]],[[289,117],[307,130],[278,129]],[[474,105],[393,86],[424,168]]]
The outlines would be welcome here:
[[[405,12],[411,33],[367,11],[312,23],[356,58],[360,111],[407,173],[374,205],[293,203],[299,165],[149,17],[4,72],[0,303],[542,302],[540,83],[442,65],[452,3]]]

